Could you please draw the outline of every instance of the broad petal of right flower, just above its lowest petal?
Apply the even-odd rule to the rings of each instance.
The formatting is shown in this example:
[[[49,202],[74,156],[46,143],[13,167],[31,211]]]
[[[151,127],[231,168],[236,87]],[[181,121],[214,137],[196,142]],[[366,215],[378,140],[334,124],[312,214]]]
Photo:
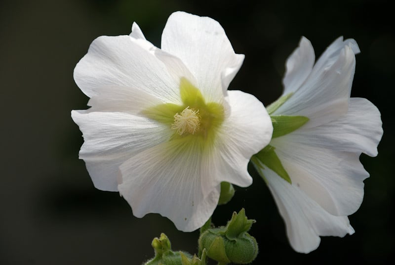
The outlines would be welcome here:
[[[315,146],[311,135],[295,131],[273,139],[276,154],[292,183],[327,212],[348,216],[363,199],[363,179],[369,174],[359,162],[359,153]]]

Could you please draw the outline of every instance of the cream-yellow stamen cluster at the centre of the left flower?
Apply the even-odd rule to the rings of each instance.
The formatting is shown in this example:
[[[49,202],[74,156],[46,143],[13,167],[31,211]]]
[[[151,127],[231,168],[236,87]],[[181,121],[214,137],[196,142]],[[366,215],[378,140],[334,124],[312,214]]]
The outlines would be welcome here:
[[[177,130],[177,133],[182,135],[184,133],[194,134],[200,127],[199,110],[190,109],[186,107],[181,113],[174,115],[174,123],[171,129]]]

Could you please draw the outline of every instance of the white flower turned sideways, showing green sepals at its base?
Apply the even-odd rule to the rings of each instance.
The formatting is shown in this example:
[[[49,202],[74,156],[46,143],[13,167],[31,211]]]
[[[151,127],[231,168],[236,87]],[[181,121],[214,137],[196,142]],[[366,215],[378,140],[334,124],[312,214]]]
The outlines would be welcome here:
[[[376,156],[383,134],[378,109],[350,98],[358,52],[354,40],[339,38],[314,65],[314,49],[302,38],[286,62],[283,96],[268,107],[273,139],[252,159],[297,252],[315,250],[319,236],[354,233],[348,216],[369,177],[358,158]]]

